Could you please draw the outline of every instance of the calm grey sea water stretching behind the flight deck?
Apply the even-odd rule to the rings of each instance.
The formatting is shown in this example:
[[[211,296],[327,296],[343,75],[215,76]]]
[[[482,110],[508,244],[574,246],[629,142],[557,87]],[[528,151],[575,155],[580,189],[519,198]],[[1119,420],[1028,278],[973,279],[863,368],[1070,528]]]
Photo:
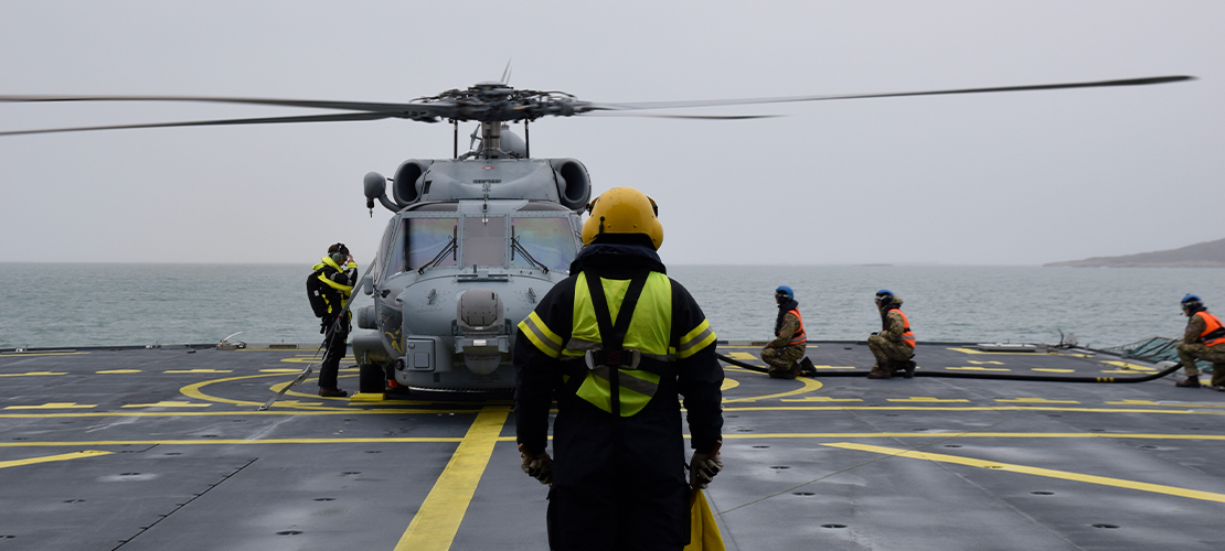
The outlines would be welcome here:
[[[307,266],[0,263],[0,349],[217,343],[315,343]],[[1105,348],[1178,337],[1178,300],[1225,312],[1225,269],[958,266],[671,266],[720,339],[771,338],[774,288],[795,290],[809,339],[878,331],[872,299],[904,300],[919,340]],[[354,307],[371,304],[359,295]]]

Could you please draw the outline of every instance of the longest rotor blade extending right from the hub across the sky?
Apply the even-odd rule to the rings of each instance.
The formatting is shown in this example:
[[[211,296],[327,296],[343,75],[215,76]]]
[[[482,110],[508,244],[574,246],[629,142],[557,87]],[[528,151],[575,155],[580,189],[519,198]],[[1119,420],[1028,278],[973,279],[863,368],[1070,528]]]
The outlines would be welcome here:
[[[1161,77],[1144,77],[1144,78],[1125,78],[1116,81],[1001,86],[992,88],[956,88],[956,89],[935,89],[935,91],[921,91],[921,92],[786,96],[777,98],[742,98],[742,99],[699,99],[690,102],[588,103],[583,105],[583,108],[587,111],[598,111],[598,110],[624,111],[624,110],[638,110],[638,109],[676,109],[676,108],[722,107],[722,105],[753,105],[763,103],[823,102],[829,99],[900,98],[908,96],[947,96],[947,94],[976,94],[976,93],[989,93],[989,92],[1028,92],[1028,91],[1040,91],[1040,89],[1066,89],[1066,88],[1102,88],[1112,86],[1145,86],[1145,84],[1164,84],[1167,82],[1191,81],[1194,78],[1196,77],[1192,76],[1178,75],[1178,76],[1161,76]]]

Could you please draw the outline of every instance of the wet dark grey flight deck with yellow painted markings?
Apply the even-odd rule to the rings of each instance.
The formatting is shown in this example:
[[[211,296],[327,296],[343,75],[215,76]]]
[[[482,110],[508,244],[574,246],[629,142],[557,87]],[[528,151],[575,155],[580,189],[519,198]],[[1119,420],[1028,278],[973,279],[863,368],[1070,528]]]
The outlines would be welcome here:
[[[862,344],[813,343],[818,370]],[[720,353],[753,365],[752,347]],[[545,549],[508,395],[350,402],[310,351],[0,354],[0,550]],[[1134,377],[1139,361],[920,344],[920,372]],[[1143,383],[771,380],[726,367],[733,550],[1220,550],[1225,393]],[[356,370],[341,371],[356,388]],[[296,392],[303,389],[304,392]],[[451,465],[447,468],[447,465]]]

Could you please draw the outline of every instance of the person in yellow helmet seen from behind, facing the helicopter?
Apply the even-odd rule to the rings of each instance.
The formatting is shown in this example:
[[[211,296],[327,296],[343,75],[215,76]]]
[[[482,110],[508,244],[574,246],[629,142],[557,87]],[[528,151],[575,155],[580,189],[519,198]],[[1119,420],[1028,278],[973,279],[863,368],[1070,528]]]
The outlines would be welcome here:
[[[521,468],[551,485],[550,549],[680,551],[691,492],[723,468],[715,334],[665,274],[654,201],[614,187],[588,213],[571,276],[518,326]],[[693,448],[687,480],[679,397]]]

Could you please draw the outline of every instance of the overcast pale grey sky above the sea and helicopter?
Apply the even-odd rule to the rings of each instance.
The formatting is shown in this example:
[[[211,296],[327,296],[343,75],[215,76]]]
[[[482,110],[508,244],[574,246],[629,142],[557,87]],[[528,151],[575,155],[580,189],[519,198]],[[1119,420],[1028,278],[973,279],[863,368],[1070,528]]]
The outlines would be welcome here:
[[[534,122],[534,156],[658,201],[668,263],[1036,264],[1225,238],[1221,1],[0,4],[0,94],[402,102],[507,61],[512,86],[594,102],[1199,77]],[[300,113],[0,104],[0,130]],[[361,178],[450,157],[451,132],[0,137],[5,260],[310,263],[342,240],[364,264],[390,213],[369,217]]]

